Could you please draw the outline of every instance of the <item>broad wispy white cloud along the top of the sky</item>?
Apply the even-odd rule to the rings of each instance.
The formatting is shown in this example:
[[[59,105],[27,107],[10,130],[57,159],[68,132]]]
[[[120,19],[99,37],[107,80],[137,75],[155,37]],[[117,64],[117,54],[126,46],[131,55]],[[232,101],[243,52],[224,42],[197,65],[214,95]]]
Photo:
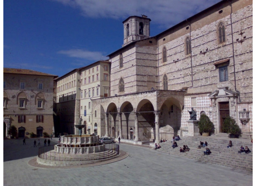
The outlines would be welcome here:
[[[212,6],[220,0],[55,0],[81,9],[85,17],[122,18],[147,15],[166,28]]]

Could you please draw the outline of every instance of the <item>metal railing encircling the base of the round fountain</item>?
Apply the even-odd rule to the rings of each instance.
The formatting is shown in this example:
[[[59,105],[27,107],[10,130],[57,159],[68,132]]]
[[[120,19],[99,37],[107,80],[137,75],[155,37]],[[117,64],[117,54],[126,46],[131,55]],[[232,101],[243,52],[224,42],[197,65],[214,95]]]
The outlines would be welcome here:
[[[50,161],[93,161],[100,159],[108,159],[113,156],[119,155],[118,144],[104,144],[104,151],[91,152],[91,153],[66,153],[56,152],[54,145],[47,147],[40,147],[38,149],[38,157]]]

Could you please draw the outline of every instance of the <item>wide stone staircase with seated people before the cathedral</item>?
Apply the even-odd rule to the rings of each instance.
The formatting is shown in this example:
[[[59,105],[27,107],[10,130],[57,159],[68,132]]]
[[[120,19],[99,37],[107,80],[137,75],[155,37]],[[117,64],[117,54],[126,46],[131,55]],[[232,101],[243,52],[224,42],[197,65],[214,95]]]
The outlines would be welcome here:
[[[241,145],[243,145],[243,147],[248,146],[252,151],[252,142],[240,138],[221,138],[223,137],[183,137],[180,141],[177,141],[178,147],[171,147],[172,141],[167,141],[162,142],[160,144],[161,148],[157,149],[157,151],[252,172],[253,152],[249,154],[238,153]],[[233,143],[232,148],[227,148],[229,140]],[[207,147],[212,152],[210,155],[204,155],[206,147],[202,147],[201,149],[197,148],[198,145],[200,145],[200,141],[207,141]],[[180,153],[180,147],[183,147],[183,145],[187,145],[190,151]]]

